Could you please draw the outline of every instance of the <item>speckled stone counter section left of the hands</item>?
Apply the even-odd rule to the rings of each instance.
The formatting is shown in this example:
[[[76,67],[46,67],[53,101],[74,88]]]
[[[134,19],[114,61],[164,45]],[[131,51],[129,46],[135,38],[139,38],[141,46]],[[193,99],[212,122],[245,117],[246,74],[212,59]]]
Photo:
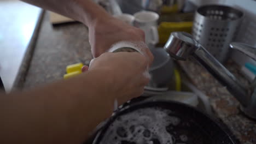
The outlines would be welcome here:
[[[49,13],[45,13],[32,54],[29,68],[21,68],[27,72],[19,87],[31,88],[63,79],[67,65],[90,63],[88,29],[78,22],[53,26]]]

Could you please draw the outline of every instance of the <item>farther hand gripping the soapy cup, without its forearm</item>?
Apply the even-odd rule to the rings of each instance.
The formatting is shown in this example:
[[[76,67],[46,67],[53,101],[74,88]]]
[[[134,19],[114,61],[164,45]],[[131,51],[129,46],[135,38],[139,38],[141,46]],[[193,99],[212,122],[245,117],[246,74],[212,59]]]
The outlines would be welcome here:
[[[141,41],[144,43],[145,35],[139,28],[130,26],[112,16],[106,16],[89,25],[89,41],[92,55],[98,57],[119,41]],[[150,64],[153,61],[152,53],[147,46],[142,47],[142,51],[146,53]]]

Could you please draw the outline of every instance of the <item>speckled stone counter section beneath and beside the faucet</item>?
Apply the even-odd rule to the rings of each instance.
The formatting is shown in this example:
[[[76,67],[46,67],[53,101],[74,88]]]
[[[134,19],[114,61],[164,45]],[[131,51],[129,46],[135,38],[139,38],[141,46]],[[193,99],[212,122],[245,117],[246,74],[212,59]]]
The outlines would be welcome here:
[[[239,109],[238,101],[232,97],[226,88],[196,62],[186,61],[179,62],[179,64],[194,85],[209,97],[213,111],[228,125],[237,139],[241,143],[255,144],[256,121],[243,115]],[[241,76],[238,71],[239,68],[234,62],[229,61],[225,65],[243,85],[249,86],[249,82]]]

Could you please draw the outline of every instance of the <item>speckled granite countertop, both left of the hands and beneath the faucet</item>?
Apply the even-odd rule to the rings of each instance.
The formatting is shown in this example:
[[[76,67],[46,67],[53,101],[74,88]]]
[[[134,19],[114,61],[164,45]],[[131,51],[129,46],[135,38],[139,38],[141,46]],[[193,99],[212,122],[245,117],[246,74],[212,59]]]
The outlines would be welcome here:
[[[88,42],[88,29],[81,23],[66,23],[52,26],[46,13],[33,52],[27,54],[31,62],[25,61],[16,83],[19,88],[31,88],[62,79],[69,64],[89,64],[92,56]],[[27,64],[29,63],[29,64]],[[237,136],[241,143],[256,143],[256,122],[246,118],[238,109],[238,101],[226,91],[205,69],[194,62],[179,62],[194,85],[204,92],[214,113]],[[248,85],[234,63],[228,69]]]

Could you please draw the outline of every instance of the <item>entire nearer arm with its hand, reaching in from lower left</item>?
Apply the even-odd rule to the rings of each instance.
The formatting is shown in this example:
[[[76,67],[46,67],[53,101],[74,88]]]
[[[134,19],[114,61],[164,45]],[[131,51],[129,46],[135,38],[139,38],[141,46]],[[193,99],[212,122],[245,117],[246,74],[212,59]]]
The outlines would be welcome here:
[[[143,93],[147,58],[103,53],[83,74],[27,92],[0,94],[0,143],[82,143],[119,104]]]

